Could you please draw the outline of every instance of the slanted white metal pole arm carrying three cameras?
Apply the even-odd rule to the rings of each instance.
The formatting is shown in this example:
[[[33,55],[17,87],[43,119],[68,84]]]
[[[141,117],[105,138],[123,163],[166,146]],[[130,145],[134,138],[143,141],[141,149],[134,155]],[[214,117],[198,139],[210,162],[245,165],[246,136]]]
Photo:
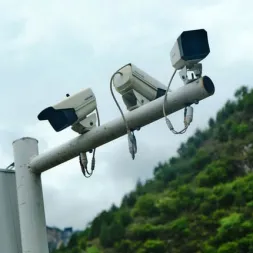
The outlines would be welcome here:
[[[189,104],[203,100],[214,94],[214,85],[206,77],[199,79],[179,89],[169,92],[167,96],[166,112],[174,113]],[[205,81],[206,80],[206,81]],[[163,117],[163,100],[160,97],[146,105],[143,105],[125,114],[125,118],[131,129],[148,125]],[[34,157],[29,167],[35,173],[41,173],[61,163],[77,157],[80,152],[102,146],[126,134],[126,126],[122,117],[110,121],[104,125],[93,128],[91,131],[80,135],[54,149]]]

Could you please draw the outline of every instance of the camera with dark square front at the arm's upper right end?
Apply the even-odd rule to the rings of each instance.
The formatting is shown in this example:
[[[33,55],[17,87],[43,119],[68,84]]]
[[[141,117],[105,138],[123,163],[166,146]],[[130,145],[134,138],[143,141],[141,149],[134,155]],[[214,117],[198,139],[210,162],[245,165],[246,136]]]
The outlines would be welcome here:
[[[172,66],[179,70],[191,68],[210,53],[207,32],[204,29],[184,31],[178,37],[171,52]]]

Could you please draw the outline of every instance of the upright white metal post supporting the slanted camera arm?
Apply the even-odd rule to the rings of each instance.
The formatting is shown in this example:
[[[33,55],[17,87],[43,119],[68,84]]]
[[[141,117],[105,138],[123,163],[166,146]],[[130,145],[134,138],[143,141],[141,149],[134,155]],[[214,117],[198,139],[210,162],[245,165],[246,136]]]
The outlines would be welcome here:
[[[48,253],[46,220],[40,174],[28,168],[38,155],[38,141],[21,138],[13,142],[22,253]]]

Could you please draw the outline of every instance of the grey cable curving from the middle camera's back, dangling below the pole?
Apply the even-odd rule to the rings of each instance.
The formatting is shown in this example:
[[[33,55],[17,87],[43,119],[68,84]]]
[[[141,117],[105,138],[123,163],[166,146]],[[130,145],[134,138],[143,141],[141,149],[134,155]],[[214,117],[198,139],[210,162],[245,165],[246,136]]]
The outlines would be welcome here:
[[[126,65],[125,65],[125,66],[126,66]],[[117,70],[117,71],[112,75],[111,80],[110,80],[110,90],[111,90],[112,97],[113,97],[113,99],[114,99],[114,101],[115,101],[115,103],[116,103],[116,105],[117,105],[117,107],[118,107],[118,109],[119,109],[119,111],[120,111],[120,113],[121,113],[121,116],[122,116],[122,118],[123,118],[123,121],[124,121],[124,123],[125,123],[126,130],[127,130],[127,135],[128,135],[128,148],[129,148],[129,152],[130,152],[130,154],[131,154],[131,156],[132,156],[132,159],[134,160],[135,154],[137,153],[137,141],[136,141],[134,132],[131,131],[131,129],[130,129],[129,126],[128,126],[128,123],[127,123],[127,120],[126,120],[126,118],[125,118],[125,115],[124,115],[124,113],[123,113],[123,111],[122,111],[122,109],[121,109],[121,107],[120,107],[120,105],[119,105],[119,103],[118,103],[118,101],[117,101],[117,99],[116,99],[116,97],[115,97],[115,95],[114,95],[113,89],[112,89],[112,86],[113,86],[113,78],[114,78],[117,74],[119,74],[119,75],[121,75],[121,76],[123,75],[119,70]]]

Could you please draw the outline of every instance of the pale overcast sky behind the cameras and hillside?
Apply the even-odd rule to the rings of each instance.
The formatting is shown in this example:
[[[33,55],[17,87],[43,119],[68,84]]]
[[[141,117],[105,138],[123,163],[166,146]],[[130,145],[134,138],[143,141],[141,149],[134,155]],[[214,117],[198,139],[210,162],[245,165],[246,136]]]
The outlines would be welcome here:
[[[237,88],[252,85],[252,9],[250,0],[0,0],[0,167],[13,161],[17,138],[37,138],[43,152],[76,136],[37,120],[66,93],[91,87],[102,123],[120,117],[110,94],[111,75],[132,62],[167,85],[176,38],[184,30],[206,29],[211,53],[202,62],[203,74],[212,78],[216,92],[194,106],[185,135],[173,135],[161,119],[136,133],[134,161],[122,137],[97,149],[90,179],[82,176],[78,159],[42,175],[47,224],[84,228],[98,212],[119,204],[138,178],[151,177],[154,166],[174,155],[196,128],[206,127]],[[182,85],[176,76],[171,89]],[[177,128],[182,114],[171,116]]]

